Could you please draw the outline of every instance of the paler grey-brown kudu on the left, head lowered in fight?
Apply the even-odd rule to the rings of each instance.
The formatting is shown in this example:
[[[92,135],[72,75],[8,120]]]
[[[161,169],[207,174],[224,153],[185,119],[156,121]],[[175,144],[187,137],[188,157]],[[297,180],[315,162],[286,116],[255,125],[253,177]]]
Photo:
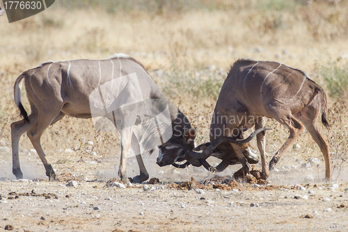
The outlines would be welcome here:
[[[21,101],[20,82],[23,79],[31,106],[29,116]],[[121,141],[118,174],[125,182],[129,181],[126,157],[130,150],[136,155],[140,169],[139,176],[133,181],[143,182],[149,175],[141,154],[152,153],[159,146],[161,155],[173,156],[171,154],[175,153],[179,157],[180,154],[185,156],[194,146],[195,130],[186,116],[159,90],[143,65],[124,54],[102,60],[42,63],[23,72],[14,88],[15,102],[24,116],[21,121],[11,124],[16,178],[23,178],[19,167],[19,139],[24,132],[44,164],[46,175],[49,179],[56,178],[52,164],[41,148],[40,137],[49,125],[65,114],[76,118],[102,116],[115,125]],[[163,112],[168,114],[161,114]],[[155,126],[150,127],[151,123]],[[145,146],[139,147],[141,144]]]

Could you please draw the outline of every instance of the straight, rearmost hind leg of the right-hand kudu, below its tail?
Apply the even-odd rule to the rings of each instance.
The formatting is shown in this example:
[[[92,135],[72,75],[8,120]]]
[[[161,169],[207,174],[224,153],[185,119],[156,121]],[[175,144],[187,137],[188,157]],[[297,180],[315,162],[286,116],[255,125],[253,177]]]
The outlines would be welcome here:
[[[322,137],[322,134],[319,132],[319,128],[317,125],[317,116],[319,114],[319,110],[310,107],[308,111],[306,111],[302,118],[301,122],[306,127],[310,136],[312,136],[315,143],[318,144],[325,160],[325,178],[326,180],[331,179],[331,167],[330,167],[330,155],[329,155],[329,145],[326,140]]]

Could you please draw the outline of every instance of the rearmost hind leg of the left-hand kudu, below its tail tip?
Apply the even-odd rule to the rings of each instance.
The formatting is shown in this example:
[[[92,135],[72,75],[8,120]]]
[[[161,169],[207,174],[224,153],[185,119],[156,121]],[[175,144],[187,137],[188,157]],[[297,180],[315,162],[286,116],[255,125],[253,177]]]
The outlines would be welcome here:
[[[19,165],[19,139],[33,125],[36,115],[29,115],[29,122],[21,120],[11,124],[11,142],[12,142],[12,172],[17,179],[23,178],[23,173]]]

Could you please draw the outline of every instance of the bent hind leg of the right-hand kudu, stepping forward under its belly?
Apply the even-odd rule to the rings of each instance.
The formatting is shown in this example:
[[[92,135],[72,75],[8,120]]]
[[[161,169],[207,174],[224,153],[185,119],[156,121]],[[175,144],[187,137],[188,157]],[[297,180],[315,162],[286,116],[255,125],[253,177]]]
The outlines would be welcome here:
[[[276,166],[276,164],[279,162],[280,157],[285,153],[287,148],[289,148],[289,146],[292,143],[294,143],[296,138],[299,137],[299,134],[303,130],[303,125],[299,121],[297,121],[297,119],[291,114],[285,118],[276,118],[276,117],[274,118],[289,129],[290,135],[286,139],[283,146],[281,146],[279,150],[276,152],[276,155],[274,155],[271,162],[269,162],[269,170],[274,169],[274,166]]]

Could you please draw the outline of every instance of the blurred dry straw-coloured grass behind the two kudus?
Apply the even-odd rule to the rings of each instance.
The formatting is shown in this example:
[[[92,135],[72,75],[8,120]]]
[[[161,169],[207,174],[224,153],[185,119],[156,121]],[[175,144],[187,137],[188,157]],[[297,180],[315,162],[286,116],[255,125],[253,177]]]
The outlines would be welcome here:
[[[276,0],[196,0],[189,5],[185,5],[186,1],[177,1],[176,5],[169,1],[139,1],[136,6],[132,5],[134,1],[121,1],[127,6],[94,1],[90,7],[86,7],[90,1],[74,2],[56,3],[35,17],[12,24],[0,17],[0,140],[4,144],[10,144],[10,123],[19,119],[13,102],[15,79],[42,61],[131,54],[144,63],[160,88],[198,127],[197,143],[208,140],[216,96],[236,59],[251,57],[286,63],[306,71],[324,88],[329,88],[330,83],[322,76],[322,67],[331,67],[338,58],[347,61],[347,1],[337,6],[316,1],[310,6],[300,1],[286,1],[283,5],[285,1]],[[346,93],[347,88],[342,88],[340,95],[330,97],[330,107],[334,108]],[[342,134],[329,140],[333,157],[340,154],[341,160],[347,160],[347,102],[339,104],[341,107],[329,115],[330,131],[324,130],[324,134]],[[24,105],[29,110],[25,99]],[[274,127],[267,137],[269,159],[287,137],[287,131],[274,121],[268,125]],[[93,150],[86,151],[85,141],[94,142]],[[303,132],[298,143],[300,150],[290,149],[284,156],[290,164],[294,153],[302,160],[313,156],[322,159],[308,133]],[[54,166],[62,170],[68,167],[72,172],[83,167],[81,157],[102,160],[120,150],[118,136],[96,132],[90,120],[69,117],[47,130],[42,144]],[[21,148],[21,155],[32,148],[26,137],[21,140]],[[65,153],[66,148],[73,152]],[[91,155],[92,151],[96,156]],[[1,159],[10,160],[10,153],[1,155]],[[115,164],[103,165],[113,168]]]

